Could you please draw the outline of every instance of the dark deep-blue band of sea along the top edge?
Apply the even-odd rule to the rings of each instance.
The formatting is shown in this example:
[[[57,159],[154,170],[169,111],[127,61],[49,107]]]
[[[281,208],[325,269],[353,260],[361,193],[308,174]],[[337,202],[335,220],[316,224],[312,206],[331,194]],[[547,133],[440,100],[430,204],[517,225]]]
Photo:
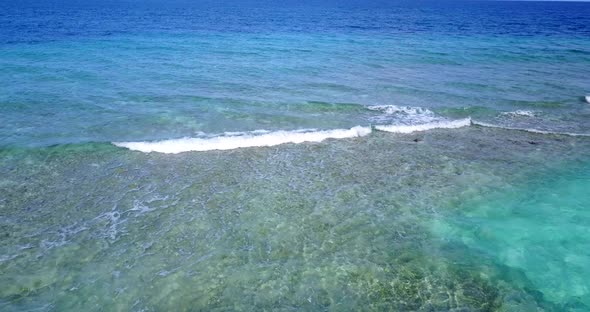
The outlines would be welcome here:
[[[586,3],[494,1],[19,1],[2,43],[146,32],[587,37]]]

